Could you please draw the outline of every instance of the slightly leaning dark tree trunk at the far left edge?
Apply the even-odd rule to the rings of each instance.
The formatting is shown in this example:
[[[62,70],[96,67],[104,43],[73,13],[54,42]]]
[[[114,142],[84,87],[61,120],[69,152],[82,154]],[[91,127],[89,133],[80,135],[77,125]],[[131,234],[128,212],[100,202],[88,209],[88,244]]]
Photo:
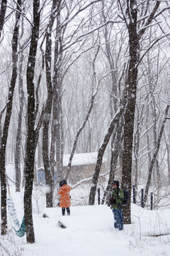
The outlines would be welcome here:
[[[1,151],[0,151],[0,173],[1,173],[1,235],[6,234],[7,228],[7,216],[6,216],[6,142],[8,139],[8,127],[11,120],[13,93],[16,85],[17,78],[17,49],[18,49],[18,31],[19,31],[19,19],[21,17],[21,0],[17,1],[16,11],[16,23],[13,29],[12,38],[12,76],[11,83],[8,92],[8,102],[6,107],[6,117],[4,122],[3,136],[1,139]]]

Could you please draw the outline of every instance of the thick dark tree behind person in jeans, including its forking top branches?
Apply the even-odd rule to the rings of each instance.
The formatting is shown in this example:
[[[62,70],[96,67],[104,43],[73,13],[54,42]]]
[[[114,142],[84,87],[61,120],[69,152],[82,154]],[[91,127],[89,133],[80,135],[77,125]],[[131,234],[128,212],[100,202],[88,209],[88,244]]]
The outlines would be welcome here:
[[[120,3],[120,9],[122,10],[123,18],[125,20],[126,26],[128,28],[129,34],[129,57],[128,68],[125,80],[125,87],[127,88],[126,92],[126,101],[127,106],[125,110],[125,124],[124,124],[124,141],[123,141],[123,176],[122,183],[123,188],[131,191],[132,188],[132,142],[133,142],[133,132],[134,132],[134,122],[135,122],[135,104],[136,104],[136,95],[137,95],[137,65],[140,62],[140,40],[144,35],[147,27],[150,23],[152,23],[155,14],[157,13],[157,9],[159,8],[159,2],[154,5],[154,8],[150,12],[148,17],[144,18],[144,24],[142,23],[142,27],[139,28],[137,26],[137,1],[136,0],[127,0],[124,2],[125,6],[123,6],[123,2]],[[144,6],[142,6],[144,7]],[[123,11],[123,9],[126,11]],[[147,13],[148,6],[146,6],[145,14]],[[143,13],[139,14],[143,15]],[[139,31],[139,32],[138,32]],[[124,210],[124,219],[125,223],[131,223],[130,217],[130,201],[128,203],[128,207]]]

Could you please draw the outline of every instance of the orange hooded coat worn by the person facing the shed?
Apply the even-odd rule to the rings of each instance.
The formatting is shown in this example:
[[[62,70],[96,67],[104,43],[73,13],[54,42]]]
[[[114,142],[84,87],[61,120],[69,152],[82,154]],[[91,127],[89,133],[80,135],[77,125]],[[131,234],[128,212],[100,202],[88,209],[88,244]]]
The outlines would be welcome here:
[[[67,208],[71,206],[71,200],[69,197],[69,192],[71,191],[72,187],[69,185],[63,185],[58,194],[61,195],[60,197],[60,207]]]

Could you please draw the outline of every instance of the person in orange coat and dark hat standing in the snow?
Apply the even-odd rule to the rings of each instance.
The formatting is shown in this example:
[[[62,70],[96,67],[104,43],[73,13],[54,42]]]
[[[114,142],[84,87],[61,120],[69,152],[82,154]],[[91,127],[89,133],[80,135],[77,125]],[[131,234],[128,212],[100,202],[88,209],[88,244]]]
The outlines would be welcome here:
[[[60,181],[60,190],[58,194],[60,195],[60,207],[62,207],[62,215],[65,215],[65,209],[67,210],[67,215],[70,215],[71,200],[69,196],[69,192],[71,191],[72,187],[67,185],[67,181],[63,179]]]

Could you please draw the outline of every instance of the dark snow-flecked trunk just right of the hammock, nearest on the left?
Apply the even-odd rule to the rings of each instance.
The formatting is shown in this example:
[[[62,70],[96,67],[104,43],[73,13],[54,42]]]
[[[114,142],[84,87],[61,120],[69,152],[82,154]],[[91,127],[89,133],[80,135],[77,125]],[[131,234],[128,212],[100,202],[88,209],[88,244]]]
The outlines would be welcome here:
[[[40,0],[33,1],[33,28],[30,41],[30,52],[27,65],[27,90],[28,90],[28,139],[26,151],[26,186],[24,191],[24,215],[26,223],[27,242],[35,242],[32,213],[32,192],[35,159],[35,58],[38,46],[40,28]]]

